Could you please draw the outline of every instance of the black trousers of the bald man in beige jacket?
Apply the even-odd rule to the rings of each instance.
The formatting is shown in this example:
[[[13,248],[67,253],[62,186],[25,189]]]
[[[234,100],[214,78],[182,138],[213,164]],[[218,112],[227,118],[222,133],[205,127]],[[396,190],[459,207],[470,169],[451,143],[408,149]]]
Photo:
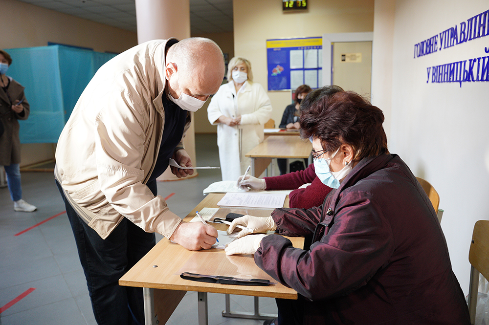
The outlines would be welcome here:
[[[118,282],[155,246],[155,234],[146,233],[123,218],[112,233],[102,239],[76,214],[57,181],[56,185],[65,201],[97,324],[143,325],[142,288],[119,286]],[[156,192],[156,181],[148,187]]]

